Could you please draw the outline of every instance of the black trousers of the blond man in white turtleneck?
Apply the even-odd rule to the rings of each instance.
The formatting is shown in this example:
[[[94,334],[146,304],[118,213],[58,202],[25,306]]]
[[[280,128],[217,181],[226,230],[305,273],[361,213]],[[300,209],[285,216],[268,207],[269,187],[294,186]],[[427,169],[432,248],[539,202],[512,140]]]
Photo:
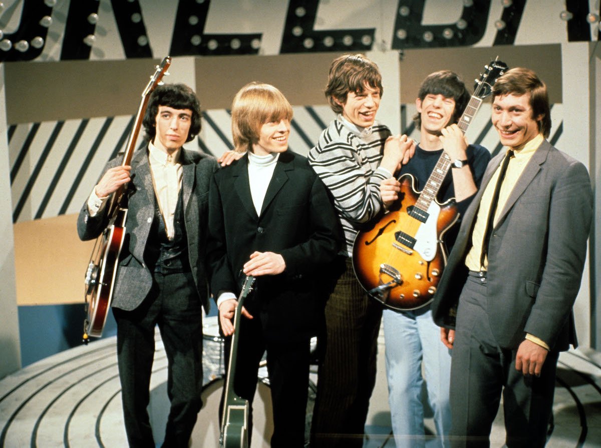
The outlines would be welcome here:
[[[242,317],[237,336],[238,352],[234,392],[252,400],[257,389],[258,368],[267,352],[267,373],[273,407],[272,448],[305,446],[305,415],[309,390],[310,341],[271,341],[266,339],[259,316]],[[225,358],[230,359],[231,338],[225,342]],[[226,362],[227,363],[227,362]],[[224,387],[225,393],[225,387]],[[222,417],[224,396],[219,418]],[[220,422],[221,424],[221,422]],[[221,426],[221,425],[220,425]],[[252,406],[249,414],[249,444],[252,434]]]

